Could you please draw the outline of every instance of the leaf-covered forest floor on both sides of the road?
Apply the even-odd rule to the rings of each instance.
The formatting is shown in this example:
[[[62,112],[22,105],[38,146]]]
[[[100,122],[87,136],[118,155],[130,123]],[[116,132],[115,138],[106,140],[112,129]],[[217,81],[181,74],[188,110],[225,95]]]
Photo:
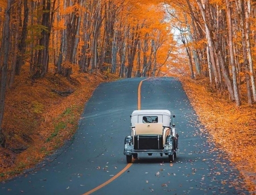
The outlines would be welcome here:
[[[0,181],[34,167],[65,141],[72,139],[85,103],[101,82],[117,80],[112,74],[76,73],[71,80],[53,73],[31,80],[23,68],[7,90],[3,133],[7,148],[0,148]],[[226,94],[210,88],[207,80],[180,78],[202,125],[218,150],[228,154],[251,194],[256,194],[256,109],[246,98],[237,107]],[[241,88],[241,92],[245,89]],[[244,93],[241,93],[244,94]]]

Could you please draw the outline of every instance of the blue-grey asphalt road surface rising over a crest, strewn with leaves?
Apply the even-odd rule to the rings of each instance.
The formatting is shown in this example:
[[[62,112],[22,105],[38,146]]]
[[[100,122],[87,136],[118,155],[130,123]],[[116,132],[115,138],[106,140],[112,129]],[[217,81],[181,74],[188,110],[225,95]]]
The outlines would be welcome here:
[[[149,78],[141,86],[141,109],[168,109],[176,115],[175,162],[145,154],[127,165],[123,143],[144,79],[98,86],[69,146],[51,163],[0,184],[0,194],[249,194],[225,153],[210,142],[176,78]]]

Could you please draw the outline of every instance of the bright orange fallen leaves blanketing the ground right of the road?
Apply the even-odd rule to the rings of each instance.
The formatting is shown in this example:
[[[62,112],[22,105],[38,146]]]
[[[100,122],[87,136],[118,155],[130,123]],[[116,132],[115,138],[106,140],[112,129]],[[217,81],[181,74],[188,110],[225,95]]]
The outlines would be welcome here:
[[[222,96],[212,92],[204,79],[180,78],[189,101],[196,111],[199,121],[204,125],[200,134],[208,132],[217,150],[224,151],[240,171],[246,188],[256,192],[256,109],[248,106],[242,97],[242,106],[230,102],[227,94]],[[241,90],[244,90],[241,88]],[[241,93],[246,94],[246,93]],[[209,139],[209,138],[208,138]],[[203,159],[207,160],[207,159]],[[218,161],[222,163],[222,161]],[[236,186],[236,181],[234,181]],[[240,182],[240,181],[237,181]],[[223,184],[226,181],[222,181]]]

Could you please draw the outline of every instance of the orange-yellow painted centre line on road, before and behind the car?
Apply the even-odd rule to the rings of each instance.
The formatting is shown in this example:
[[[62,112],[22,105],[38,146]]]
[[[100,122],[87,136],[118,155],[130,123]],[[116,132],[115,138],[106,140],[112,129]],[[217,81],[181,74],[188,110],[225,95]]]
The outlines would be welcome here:
[[[141,110],[141,85],[142,82],[147,80],[148,78],[142,80],[141,82],[139,82],[139,87],[138,87],[138,110]],[[133,165],[133,163],[129,163],[125,166],[125,168],[123,168],[120,172],[117,173],[117,175],[113,176],[111,179],[109,179],[108,181],[104,182],[101,185],[98,185],[96,188],[93,188],[92,190],[82,194],[82,195],[89,195],[92,194],[93,192],[96,192],[97,190],[103,188],[104,186],[108,185],[110,182],[114,181],[115,179],[117,179],[117,177],[121,176],[122,173],[124,173],[127,169],[129,169],[131,167],[131,165]]]

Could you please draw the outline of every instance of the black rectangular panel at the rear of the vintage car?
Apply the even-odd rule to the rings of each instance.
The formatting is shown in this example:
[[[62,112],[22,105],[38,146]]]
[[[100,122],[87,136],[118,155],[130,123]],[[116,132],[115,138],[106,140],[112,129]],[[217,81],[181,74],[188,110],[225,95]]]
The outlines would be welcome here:
[[[135,150],[163,150],[162,135],[135,135]]]

